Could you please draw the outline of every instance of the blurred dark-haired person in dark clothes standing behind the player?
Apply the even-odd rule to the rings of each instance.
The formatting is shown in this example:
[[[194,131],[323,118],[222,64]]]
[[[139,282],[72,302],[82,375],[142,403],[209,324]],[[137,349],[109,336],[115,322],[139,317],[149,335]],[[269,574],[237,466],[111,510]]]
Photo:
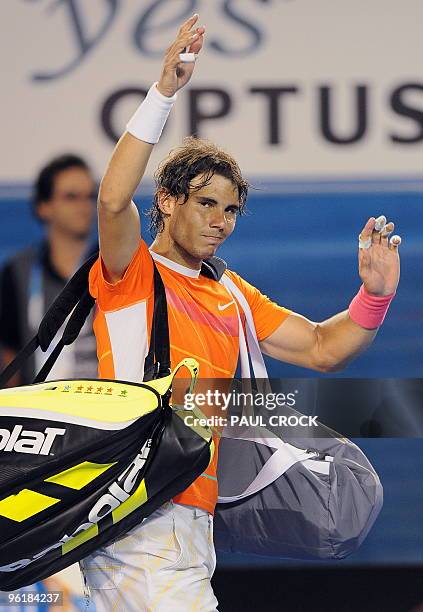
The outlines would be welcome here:
[[[61,155],[41,169],[32,206],[44,225],[44,238],[7,261],[0,277],[0,347],[4,365],[35,335],[55,297],[82,261],[96,250],[91,240],[95,199],[96,184],[81,157]],[[12,379],[11,386],[31,383],[46,357],[38,349]],[[76,342],[62,351],[49,375],[50,379],[79,377],[97,377],[91,318]]]

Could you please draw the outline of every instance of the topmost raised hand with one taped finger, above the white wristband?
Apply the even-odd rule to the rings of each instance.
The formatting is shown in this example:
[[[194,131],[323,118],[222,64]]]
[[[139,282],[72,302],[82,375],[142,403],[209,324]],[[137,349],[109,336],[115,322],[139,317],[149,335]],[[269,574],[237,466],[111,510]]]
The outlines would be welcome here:
[[[179,28],[175,41],[166,51],[162,73],[157,85],[157,89],[164,96],[173,96],[178,89],[181,89],[190,80],[195,67],[194,62],[181,62],[179,54],[187,50],[197,56],[203,46],[205,28],[204,26],[194,29],[198,21],[195,14]]]

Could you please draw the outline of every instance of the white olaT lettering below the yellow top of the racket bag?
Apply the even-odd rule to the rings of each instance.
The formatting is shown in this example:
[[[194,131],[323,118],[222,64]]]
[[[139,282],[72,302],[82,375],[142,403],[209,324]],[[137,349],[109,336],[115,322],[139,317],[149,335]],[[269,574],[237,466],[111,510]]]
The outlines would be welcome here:
[[[64,436],[66,429],[46,427],[44,432],[24,429],[15,425],[9,429],[0,429],[0,451],[48,455],[57,436]]]

